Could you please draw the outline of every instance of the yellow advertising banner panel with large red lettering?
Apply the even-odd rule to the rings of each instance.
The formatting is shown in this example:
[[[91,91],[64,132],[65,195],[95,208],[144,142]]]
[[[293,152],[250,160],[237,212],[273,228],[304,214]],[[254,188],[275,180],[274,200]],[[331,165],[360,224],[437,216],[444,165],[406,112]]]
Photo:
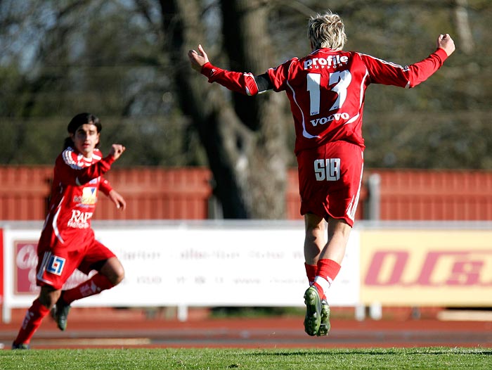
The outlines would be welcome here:
[[[365,305],[492,305],[492,231],[363,230],[360,241]]]

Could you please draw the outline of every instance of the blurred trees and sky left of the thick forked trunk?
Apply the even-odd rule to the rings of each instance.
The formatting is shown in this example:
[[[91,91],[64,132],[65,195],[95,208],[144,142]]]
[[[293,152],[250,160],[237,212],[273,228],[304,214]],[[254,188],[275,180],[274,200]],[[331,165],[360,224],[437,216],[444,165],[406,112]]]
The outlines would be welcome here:
[[[162,68],[153,3],[157,28],[134,1],[1,2],[2,162],[53,162],[67,122],[91,111],[103,135],[131,148],[121,165],[206,165]]]

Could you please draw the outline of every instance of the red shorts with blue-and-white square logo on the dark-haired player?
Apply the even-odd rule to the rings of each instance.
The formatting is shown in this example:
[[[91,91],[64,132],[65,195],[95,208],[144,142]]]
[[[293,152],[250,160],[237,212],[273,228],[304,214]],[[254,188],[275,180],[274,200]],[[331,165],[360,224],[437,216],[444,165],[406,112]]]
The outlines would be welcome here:
[[[94,269],[93,264],[115,257],[111,250],[96,241],[92,230],[84,234],[85,237],[77,239],[77,243],[55,243],[53,246],[39,243],[36,276],[38,286],[48,285],[61,289],[75,269],[89,274]]]

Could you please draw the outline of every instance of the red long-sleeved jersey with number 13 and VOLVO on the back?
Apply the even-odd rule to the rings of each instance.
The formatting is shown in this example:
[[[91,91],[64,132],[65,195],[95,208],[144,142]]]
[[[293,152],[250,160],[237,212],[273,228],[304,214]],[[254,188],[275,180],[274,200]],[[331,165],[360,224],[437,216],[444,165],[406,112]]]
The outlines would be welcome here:
[[[443,49],[405,67],[354,51],[318,49],[267,71],[274,91],[290,100],[296,132],[295,153],[330,141],[345,140],[364,148],[362,116],[369,84],[415,87],[446,60]],[[254,95],[251,73],[221,70],[207,63],[202,74],[233,91]]]

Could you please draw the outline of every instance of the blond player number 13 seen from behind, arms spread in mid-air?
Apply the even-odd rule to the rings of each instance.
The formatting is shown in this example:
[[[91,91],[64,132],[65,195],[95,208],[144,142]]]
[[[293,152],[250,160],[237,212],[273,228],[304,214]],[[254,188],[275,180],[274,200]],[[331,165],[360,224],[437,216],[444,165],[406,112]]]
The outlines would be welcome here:
[[[304,330],[309,336],[325,336],[330,331],[326,295],[345,255],[361,189],[365,89],[369,84],[415,87],[443,65],[455,46],[449,34],[441,34],[434,53],[404,67],[343,51],[347,41],[344,23],[330,11],[309,20],[308,38],[312,53],[287,60],[262,75],[216,67],[201,45],[198,51],[188,51],[188,58],[192,68],[211,83],[250,96],[270,89],[285,91],[289,98],[300,211],[306,225],[304,258],[309,288],[304,293]]]

